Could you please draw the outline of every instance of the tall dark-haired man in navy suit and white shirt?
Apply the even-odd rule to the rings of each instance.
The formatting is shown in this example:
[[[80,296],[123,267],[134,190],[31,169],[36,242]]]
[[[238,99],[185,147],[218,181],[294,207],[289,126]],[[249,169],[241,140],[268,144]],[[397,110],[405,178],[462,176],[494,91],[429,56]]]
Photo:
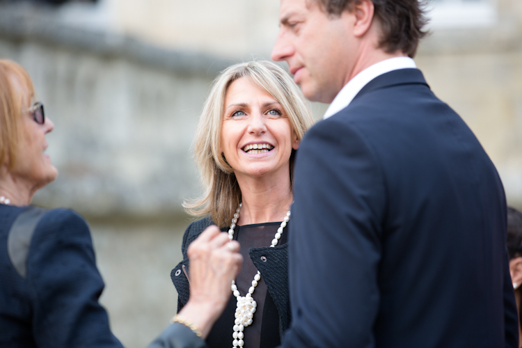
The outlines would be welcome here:
[[[331,103],[296,157],[285,347],[518,347],[502,182],[411,57],[417,0],[281,0],[272,58]]]

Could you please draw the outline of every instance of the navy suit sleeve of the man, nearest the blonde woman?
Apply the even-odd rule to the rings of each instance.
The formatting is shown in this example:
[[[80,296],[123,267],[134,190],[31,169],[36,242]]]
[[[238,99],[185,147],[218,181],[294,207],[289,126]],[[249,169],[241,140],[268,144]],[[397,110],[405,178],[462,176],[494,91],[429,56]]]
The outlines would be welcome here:
[[[372,347],[379,308],[379,158],[355,125],[310,129],[296,157],[289,263],[292,326],[283,347]]]

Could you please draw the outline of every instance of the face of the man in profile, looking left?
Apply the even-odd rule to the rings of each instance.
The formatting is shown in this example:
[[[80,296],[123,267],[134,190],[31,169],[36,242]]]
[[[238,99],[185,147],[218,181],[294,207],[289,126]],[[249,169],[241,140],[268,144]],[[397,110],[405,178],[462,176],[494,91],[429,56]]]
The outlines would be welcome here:
[[[327,15],[315,0],[281,0],[280,31],[271,58],[288,63],[309,100],[329,103],[345,85],[347,51],[353,47],[347,25],[351,17],[347,11]]]

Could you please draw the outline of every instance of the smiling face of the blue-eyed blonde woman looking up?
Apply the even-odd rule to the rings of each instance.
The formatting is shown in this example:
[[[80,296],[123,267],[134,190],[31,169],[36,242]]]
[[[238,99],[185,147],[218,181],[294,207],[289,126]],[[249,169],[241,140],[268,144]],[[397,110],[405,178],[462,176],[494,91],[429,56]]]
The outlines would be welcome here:
[[[228,86],[221,147],[236,177],[287,175],[299,141],[277,100],[242,77]]]

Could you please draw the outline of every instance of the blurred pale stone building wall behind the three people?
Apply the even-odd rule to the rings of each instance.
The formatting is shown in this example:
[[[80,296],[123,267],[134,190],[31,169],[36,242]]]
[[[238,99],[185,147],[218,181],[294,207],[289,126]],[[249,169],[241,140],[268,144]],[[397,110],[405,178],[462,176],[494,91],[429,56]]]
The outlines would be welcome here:
[[[129,348],[176,311],[171,269],[200,193],[191,141],[209,83],[269,58],[279,0],[0,0],[0,57],[22,64],[55,124],[56,182],[33,203],[93,230],[102,303]],[[522,207],[522,1],[431,0],[416,63],[473,129]],[[325,104],[313,104],[319,120]]]

